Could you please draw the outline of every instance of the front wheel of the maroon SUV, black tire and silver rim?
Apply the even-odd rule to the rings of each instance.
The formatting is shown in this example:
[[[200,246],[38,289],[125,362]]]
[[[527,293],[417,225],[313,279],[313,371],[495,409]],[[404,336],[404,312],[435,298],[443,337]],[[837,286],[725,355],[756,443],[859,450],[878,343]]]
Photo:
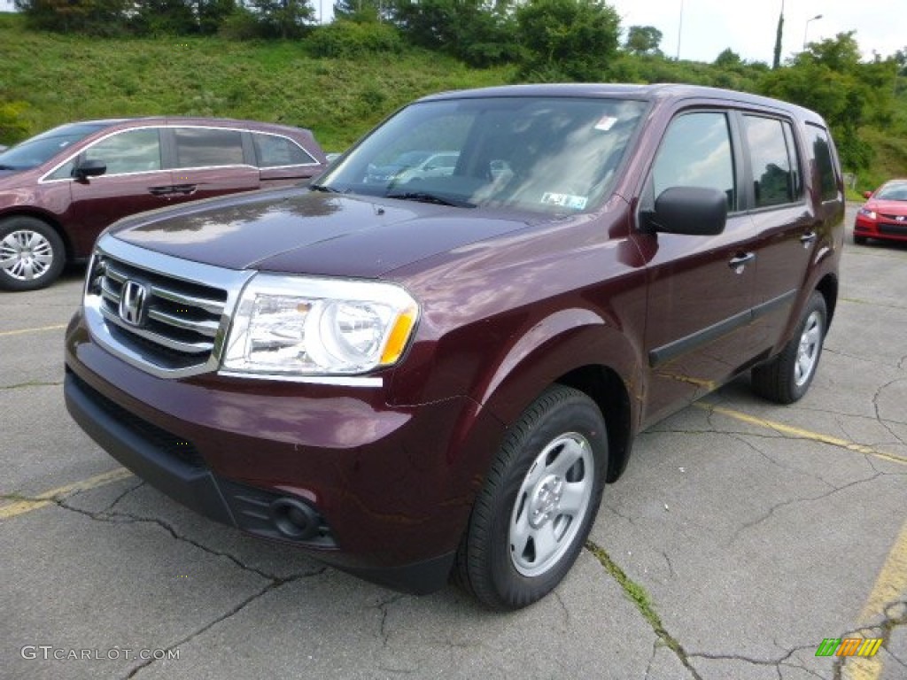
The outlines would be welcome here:
[[[493,609],[551,592],[589,535],[607,469],[596,403],[563,385],[542,393],[511,428],[475,500],[457,551],[460,585]]]

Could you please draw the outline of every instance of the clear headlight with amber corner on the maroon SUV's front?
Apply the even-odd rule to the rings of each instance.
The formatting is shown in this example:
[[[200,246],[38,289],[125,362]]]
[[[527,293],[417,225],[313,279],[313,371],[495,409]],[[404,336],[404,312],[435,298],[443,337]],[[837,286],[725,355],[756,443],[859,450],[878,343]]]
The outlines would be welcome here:
[[[221,366],[253,374],[361,374],[403,355],[419,307],[383,282],[258,274],[242,292]]]

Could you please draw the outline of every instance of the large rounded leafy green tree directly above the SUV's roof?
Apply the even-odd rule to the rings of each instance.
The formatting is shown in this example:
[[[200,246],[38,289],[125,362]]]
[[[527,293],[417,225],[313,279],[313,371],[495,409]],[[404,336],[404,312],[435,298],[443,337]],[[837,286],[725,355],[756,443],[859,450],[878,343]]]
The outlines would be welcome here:
[[[617,56],[620,18],[603,0],[529,0],[516,19],[524,73],[596,81]]]

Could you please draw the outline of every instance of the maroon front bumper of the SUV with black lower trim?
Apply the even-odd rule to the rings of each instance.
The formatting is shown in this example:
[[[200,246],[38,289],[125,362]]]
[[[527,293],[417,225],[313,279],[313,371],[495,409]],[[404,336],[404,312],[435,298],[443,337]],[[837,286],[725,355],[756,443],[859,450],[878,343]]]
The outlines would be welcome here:
[[[155,377],[94,344],[79,315],[65,361],[73,419],[141,479],[410,592],[444,586],[503,434],[465,397],[390,407],[383,388]],[[314,531],[281,530],[287,503],[311,510]]]

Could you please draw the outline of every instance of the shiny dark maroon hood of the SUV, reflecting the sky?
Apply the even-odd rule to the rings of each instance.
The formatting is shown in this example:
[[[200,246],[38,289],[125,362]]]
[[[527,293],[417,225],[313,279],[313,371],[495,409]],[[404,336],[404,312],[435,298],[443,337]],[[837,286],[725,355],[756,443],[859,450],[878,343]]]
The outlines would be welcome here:
[[[378,277],[424,257],[525,228],[479,209],[307,189],[200,201],[122,220],[110,234],[217,267]]]

